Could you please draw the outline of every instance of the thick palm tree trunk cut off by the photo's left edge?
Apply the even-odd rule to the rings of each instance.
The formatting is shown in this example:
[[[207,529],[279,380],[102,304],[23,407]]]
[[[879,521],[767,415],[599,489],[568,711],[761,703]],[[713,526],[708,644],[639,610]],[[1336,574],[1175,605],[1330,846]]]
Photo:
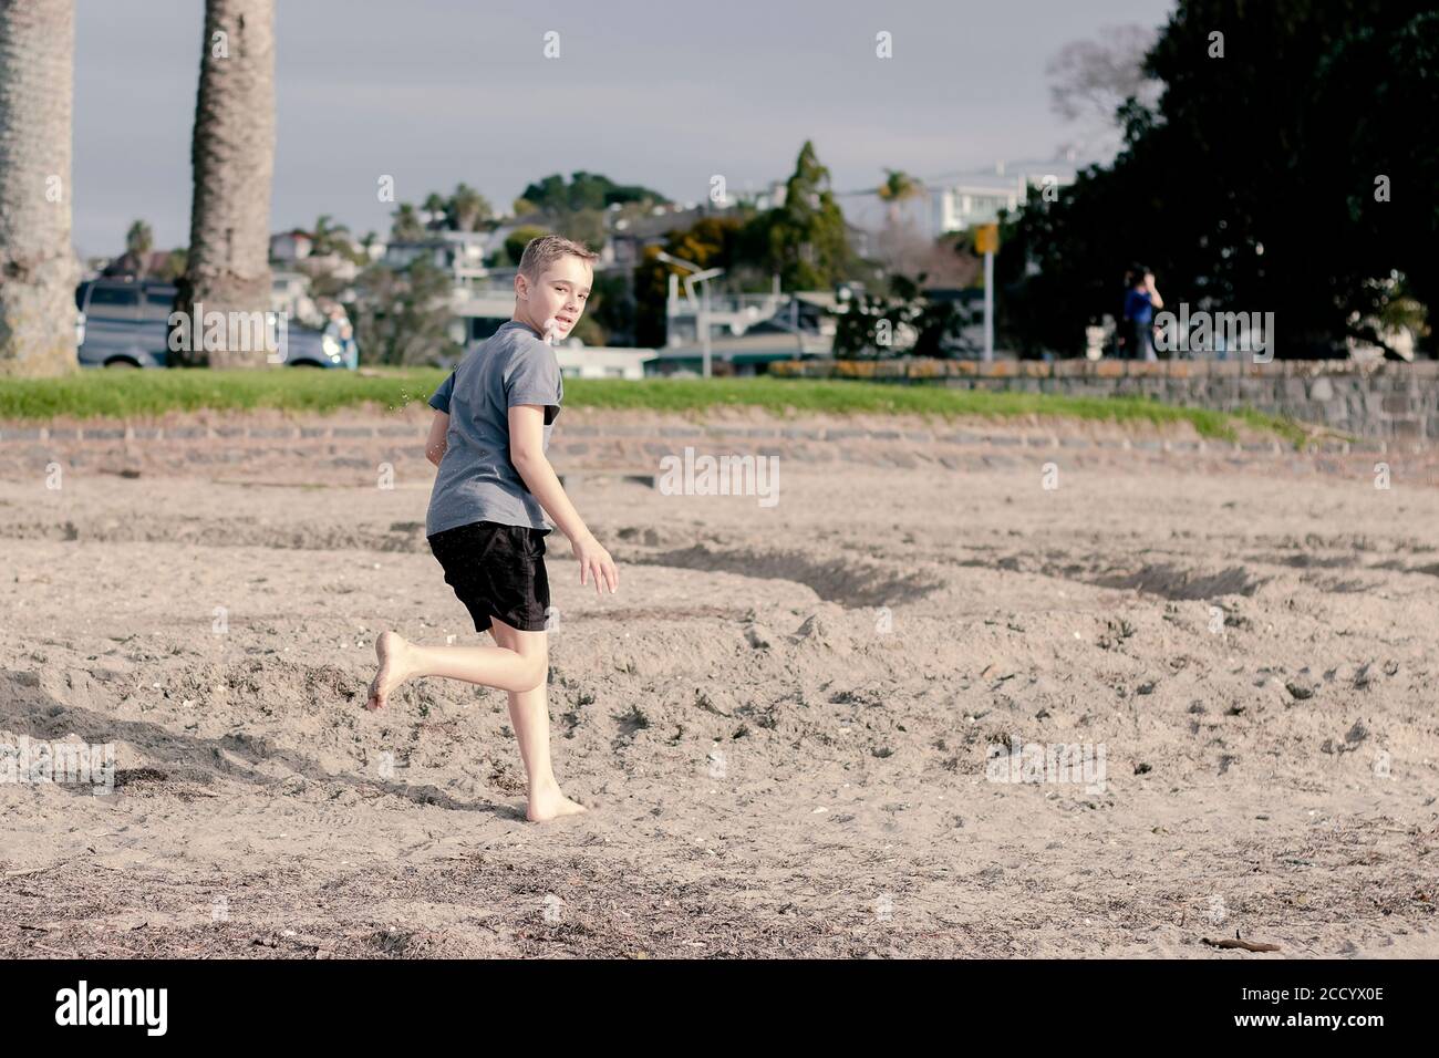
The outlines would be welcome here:
[[[0,3],[0,376],[79,371],[73,96],[75,0]]]

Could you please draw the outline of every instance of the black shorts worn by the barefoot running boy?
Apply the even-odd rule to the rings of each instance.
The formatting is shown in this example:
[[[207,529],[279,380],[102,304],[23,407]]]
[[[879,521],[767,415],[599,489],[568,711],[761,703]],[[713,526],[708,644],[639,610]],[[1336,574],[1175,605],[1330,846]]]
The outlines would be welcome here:
[[[550,609],[550,577],[544,569],[544,537],[550,530],[476,521],[432,537],[430,551],[445,570],[445,583],[475,619],[475,630],[499,618],[521,632],[543,632]]]

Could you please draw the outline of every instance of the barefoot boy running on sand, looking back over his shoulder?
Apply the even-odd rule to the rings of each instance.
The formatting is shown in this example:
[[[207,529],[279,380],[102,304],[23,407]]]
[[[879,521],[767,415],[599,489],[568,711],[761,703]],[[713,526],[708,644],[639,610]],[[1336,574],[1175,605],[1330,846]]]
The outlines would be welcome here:
[[[419,646],[396,632],[374,643],[380,671],[367,707],[414,677],[449,677],[509,694],[509,718],[530,786],[531,822],[584,812],[550,769],[550,671],[544,514],[570,540],[580,584],[613,593],[619,573],[571,505],[545,458],[564,386],[547,338],[578,322],[597,255],[547,235],[532,239],[515,275],[514,318],[465,357],[430,397],[436,409],[426,455],[439,466],[425,518],[430,551],[476,632],[495,646]]]

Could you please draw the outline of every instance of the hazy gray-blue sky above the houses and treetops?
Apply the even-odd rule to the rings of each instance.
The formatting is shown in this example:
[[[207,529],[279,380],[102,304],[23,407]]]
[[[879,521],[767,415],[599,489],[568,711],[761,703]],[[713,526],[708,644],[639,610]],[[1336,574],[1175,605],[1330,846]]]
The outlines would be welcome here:
[[[75,245],[118,253],[132,220],[189,242],[201,0],[78,0]],[[553,173],[676,202],[793,171],[806,140],[837,191],[884,167],[925,180],[1045,160],[1073,138],[1045,63],[1173,0],[804,0],[496,4],[276,0],[271,230],[321,213],[389,232],[396,199],[463,181],[496,212]],[[558,33],[560,56],[544,58]],[[894,58],[875,56],[888,32]]]

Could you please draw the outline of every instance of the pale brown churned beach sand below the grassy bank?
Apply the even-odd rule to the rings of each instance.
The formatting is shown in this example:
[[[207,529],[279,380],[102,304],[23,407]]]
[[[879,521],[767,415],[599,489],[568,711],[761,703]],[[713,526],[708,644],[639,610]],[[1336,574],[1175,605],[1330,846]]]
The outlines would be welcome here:
[[[502,692],[363,708],[380,630],[481,642],[427,465],[12,469],[0,731],[118,772],[0,785],[0,954],[1439,954],[1439,489],[1046,459],[786,462],[773,507],[574,484],[622,584],[551,538],[593,810],[544,825]],[[1102,782],[1000,782],[1010,744]],[[1203,943],[1236,934],[1281,950]]]

